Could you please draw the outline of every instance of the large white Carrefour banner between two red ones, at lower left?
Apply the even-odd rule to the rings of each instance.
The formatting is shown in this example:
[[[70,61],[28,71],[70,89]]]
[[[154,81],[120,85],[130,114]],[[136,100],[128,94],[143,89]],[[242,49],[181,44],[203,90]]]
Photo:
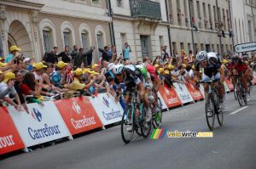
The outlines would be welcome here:
[[[19,112],[13,106],[8,107],[26,147],[69,136],[67,127],[53,102],[44,102],[44,107],[40,104],[27,104],[27,107],[29,114],[26,111]]]

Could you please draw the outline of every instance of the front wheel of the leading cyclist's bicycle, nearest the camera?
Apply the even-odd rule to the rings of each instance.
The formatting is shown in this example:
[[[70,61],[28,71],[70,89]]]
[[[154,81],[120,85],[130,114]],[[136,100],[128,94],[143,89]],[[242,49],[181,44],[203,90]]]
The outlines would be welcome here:
[[[131,121],[131,117],[129,118],[129,114],[131,115],[131,112],[132,112],[132,107],[131,105],[128,105],[125,108],[122,121],[121,121],[121,134],[125,144],[129,144],[131,142],[131,138],[133,137],[133,133],[134,133],[134,120]],[[127,128],[131,126],[132,126],[132,130],[131,132],[128,132]]]

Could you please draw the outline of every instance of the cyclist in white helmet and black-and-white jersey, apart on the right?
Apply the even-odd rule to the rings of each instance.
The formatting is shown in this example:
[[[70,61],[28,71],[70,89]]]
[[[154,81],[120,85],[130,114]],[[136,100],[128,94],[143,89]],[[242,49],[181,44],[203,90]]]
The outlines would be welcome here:
[[[202,69],[202,80],[209,81],[211,79],[219,80],[218,83],[214,82],[214,85],[218,89],[218,93],[220,95],[220,108],[222,111],[225,111],[224,105],[224,70],[221,68],[221,65],[218,62],[218,57],[214,53],[208,53],[205,51],[201,51],[196,54],[195,61],[195,87],[198,89],[198,81],[200,81],[200,68]],[[205,96],[207,96],[209,84],[204,84],[205,88]],[[211,105],[208,105],[208,115],[212,115]]]

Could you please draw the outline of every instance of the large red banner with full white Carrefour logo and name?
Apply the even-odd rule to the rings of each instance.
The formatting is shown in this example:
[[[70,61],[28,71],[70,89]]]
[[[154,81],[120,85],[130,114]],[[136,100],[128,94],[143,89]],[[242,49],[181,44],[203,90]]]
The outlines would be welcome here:
[[[72,135],[102,127],[102,121],[90,104],[90,99],[85,96],[56,100],[55,105]]]

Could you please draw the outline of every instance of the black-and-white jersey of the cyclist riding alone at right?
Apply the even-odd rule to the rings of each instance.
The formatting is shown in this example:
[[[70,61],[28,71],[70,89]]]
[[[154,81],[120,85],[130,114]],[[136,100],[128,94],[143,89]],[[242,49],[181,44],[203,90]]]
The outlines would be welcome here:
[[[206,76],[212,77],[218,74],[218,69],[220,68],[220,64],[218,63],[218,58],[216,54],[214,53],[209,53],[208,54],[208,64],[207,67],[203,69],[203,74]],[[200,71],[201,65],[200,61],[196,60],[195,62],[195,70]]]

